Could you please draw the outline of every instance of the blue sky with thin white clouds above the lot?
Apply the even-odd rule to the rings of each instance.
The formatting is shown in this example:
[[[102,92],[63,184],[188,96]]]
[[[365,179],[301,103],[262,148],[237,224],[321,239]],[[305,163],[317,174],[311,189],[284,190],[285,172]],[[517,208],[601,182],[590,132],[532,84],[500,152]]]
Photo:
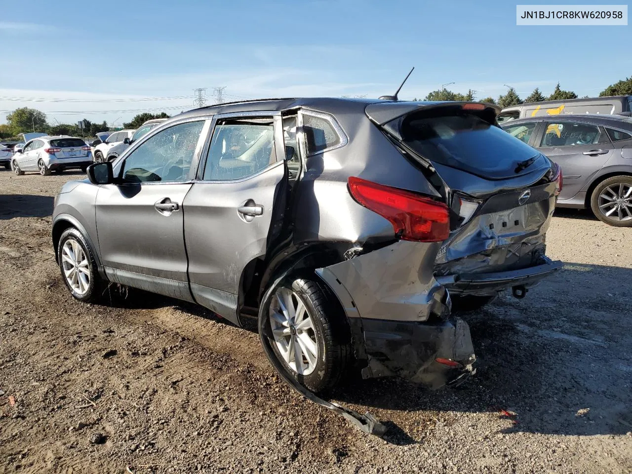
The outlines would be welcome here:
[[[7,2],[0,123],[23,106],[51,123],[174,114],[193,106],[196,87],[208,88],[209,103],[221,86],[229,100],[377,97],[411,66],[402,99],[449,82],[478,98],[504,84],[522,97],[548,94],[558,81],[593,96],[632,75],[631,28],[518,27],[507,1]],[[147,97],[169,99],[138,100]]]

